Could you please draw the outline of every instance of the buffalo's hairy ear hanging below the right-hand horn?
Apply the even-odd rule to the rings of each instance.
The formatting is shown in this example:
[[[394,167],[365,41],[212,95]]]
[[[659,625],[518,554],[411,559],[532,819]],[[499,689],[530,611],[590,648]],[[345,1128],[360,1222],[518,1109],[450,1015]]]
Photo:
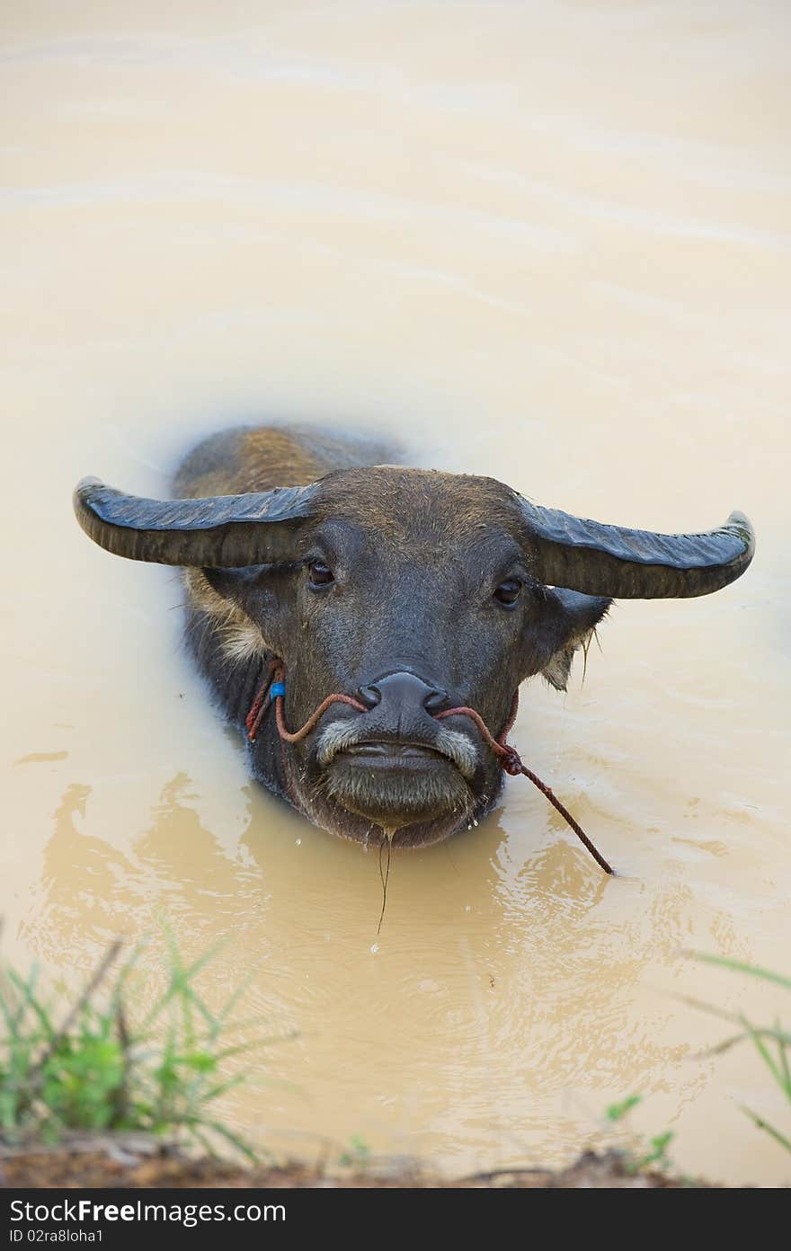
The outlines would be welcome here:
[[[566,691],[574,652],[587,646],[611,603],[564,587],[547,588],[538,620],[528,627],[531,672],[542,673],[556,691]]]

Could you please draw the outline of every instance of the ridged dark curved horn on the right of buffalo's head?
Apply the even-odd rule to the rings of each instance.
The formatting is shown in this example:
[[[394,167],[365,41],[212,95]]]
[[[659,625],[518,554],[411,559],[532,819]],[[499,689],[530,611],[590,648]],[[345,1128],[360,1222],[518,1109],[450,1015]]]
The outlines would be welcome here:
[[[755,534],[743,513],[702,534],[653,534],[539,508],[519,497],[542,582],[612,599],[707,595],[745,572]]]

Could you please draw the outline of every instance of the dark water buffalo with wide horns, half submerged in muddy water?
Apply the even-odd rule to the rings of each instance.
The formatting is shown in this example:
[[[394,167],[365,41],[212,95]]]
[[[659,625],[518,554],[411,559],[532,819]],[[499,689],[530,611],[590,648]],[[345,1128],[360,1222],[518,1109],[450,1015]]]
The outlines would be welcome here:
[[[75,510],[106,550],[184,567],[189,646],[239,728],[275,657],[292,731],[345,696],[298,742],[259,701],[265,787],[335,834],[421,847],[483,817],[503,781],[476,723],[443,711],[472,707],[499,734],[526,678],[566,688],[613,598],[718,590],[753,534],[738,513],[703,534],[603,525],[383,459],[302,428],[235,429],[186,457],[173,499],[85,479]]]

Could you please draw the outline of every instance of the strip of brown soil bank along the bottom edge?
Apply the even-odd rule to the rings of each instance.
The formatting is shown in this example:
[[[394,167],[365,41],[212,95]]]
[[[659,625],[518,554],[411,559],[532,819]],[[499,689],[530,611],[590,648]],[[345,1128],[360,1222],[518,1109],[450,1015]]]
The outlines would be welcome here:
[[[317,1165],[289,1161],[278,1166],[242,1168],[222,1160],[193,1160],[178,1150],[151,1143],[139,1135],[74,1137],[54,1147],[40,1145],[0,1148],[3,1187],[174,1187],[232,1186],[239,1188],[300,1187],[516,1187],[556,1188],[663,1188],[688,1186],[688,1181],[661,1173],[633,1173],[617,1152],[587,1152],[559,1172],[543,1168],[502,1168],[457,1181],[438,1178],[424,1166],[404,1161],[372,1162],[358,1171],[329,1171]],[[706,1185],[706,1183],[701,1183]]]

